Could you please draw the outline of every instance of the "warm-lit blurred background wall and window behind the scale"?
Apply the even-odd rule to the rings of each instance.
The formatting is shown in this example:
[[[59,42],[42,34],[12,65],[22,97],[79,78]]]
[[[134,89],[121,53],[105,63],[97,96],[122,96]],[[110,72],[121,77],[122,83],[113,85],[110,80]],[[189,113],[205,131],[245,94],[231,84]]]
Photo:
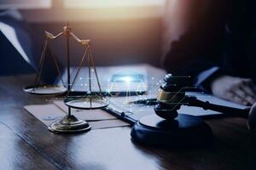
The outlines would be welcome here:
[[[69,21],[80,38],[91,39],[96,65],[148,63],[160,66],[165,0],[2,0],[1,12],[18,9],[43,45],[44,31],[57,34]],[[51,43],[65,61],[65,43]],[[83,48],[72,42],[72,64]],[[1,47],[2,48],[2,47]],[[4,56],[2,56],[4,57]]]

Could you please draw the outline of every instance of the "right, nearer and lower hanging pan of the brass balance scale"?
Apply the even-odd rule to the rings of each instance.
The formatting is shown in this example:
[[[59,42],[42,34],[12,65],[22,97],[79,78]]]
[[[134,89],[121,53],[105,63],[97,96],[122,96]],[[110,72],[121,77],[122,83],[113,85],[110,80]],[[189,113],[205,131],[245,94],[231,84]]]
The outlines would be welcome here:
[[[93,110],[93,109],[102,109],[107,107],[109,104],[108,99],[103,97],[68,97],[64,99],[65,105],[80,110]]]

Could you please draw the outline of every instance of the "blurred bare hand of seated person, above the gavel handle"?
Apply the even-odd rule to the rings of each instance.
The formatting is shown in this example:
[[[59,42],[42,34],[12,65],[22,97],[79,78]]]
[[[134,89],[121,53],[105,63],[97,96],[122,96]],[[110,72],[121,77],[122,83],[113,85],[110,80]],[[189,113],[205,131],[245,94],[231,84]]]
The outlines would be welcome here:
[[[256,86],[251,79],[221,76],[211,83],[212,94],[242,105],[256,102]]]

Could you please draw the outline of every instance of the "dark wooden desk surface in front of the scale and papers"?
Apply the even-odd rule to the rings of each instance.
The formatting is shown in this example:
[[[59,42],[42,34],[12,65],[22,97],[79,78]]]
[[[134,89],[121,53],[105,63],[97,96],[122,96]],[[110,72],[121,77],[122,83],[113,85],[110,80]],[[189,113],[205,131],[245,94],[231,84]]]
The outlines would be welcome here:
[[[245,119],[207,120],[215,140],[205,148],[167,150],[131,141],[131,127],[49,133],[23,105],[46,103],[22,87],[31,76],[0,77],[0,169],[255,169],[256,133]]]

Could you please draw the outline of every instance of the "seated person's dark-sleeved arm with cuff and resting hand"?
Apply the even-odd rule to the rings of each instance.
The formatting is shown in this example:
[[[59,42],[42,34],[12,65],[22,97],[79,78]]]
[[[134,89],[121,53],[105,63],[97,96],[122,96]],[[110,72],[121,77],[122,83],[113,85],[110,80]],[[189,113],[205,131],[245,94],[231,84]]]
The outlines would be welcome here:
[[[166,71],[190,76],[194,79],[191,85],[220,98],[252,105],[256,101],[253,81],[230,77],[220,65],[224,49],[218,45],[224,42],[225,4],[208,0],[170,2],[165,35],[169,48],[163,59]]]

